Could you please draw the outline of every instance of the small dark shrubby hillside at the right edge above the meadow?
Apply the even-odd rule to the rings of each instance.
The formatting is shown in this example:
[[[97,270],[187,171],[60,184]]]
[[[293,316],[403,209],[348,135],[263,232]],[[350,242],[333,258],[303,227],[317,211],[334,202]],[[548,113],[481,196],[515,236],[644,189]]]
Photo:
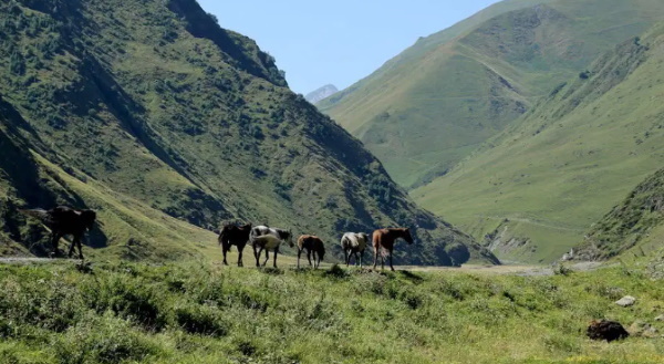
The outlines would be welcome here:
[[[642,257],[664,249],[664,169],[646,178],[574,249],[573,258],[604,260],[626,251]]]

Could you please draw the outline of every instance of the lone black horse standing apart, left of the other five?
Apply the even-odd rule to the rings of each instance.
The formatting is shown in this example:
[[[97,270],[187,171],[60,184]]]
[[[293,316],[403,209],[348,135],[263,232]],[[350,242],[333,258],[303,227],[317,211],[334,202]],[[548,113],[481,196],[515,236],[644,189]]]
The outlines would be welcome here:
[[[74,240],[70,247],[69,257],[74,252],[74,247],[79,247],[79,258],[83,259],[83,249],[81,240],[85,231],[92,230],[96,220],[94,210],[75,210],[66,206],[58,206],[50,210],[32,209],[21,210],[25,215],[30,215],[42,220],[49,229],[51,229],[51,245],[53,246],[53,257],[58,257],[58,243],[60,238],[71,235]]]

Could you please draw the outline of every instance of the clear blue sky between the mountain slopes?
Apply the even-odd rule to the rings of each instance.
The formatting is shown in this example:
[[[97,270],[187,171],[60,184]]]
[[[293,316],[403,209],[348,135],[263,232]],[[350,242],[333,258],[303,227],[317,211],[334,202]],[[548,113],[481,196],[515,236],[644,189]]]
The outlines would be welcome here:
[[[248,35],[277,59],[290,87],[340,90],[367,76],[419,37],[497,0],[199,0],[222,28]]]

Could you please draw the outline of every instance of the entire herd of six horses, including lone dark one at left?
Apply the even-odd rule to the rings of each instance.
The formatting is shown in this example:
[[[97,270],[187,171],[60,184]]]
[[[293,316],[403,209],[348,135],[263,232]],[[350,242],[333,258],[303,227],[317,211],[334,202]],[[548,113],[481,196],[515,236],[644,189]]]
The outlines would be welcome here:
[[[79,258],[83,259],[83,251],[81,249],[81,240],[85,231],[92,230],[96,221],[96,212],[93,210],[76,210],[65,206],[59,206],[51,210],[43,209],[31,209],[20,210],[21,212],[35,217],[44,222],[49,229],[51,229],[51,243],[53,247],[53,256],[59,254],[58,242],[60,238],[65,235],[73,236],[73,241],[70,247],[69,257],[72,257],[74,247],[79,247]],[[394,251],[394,242],[396,239],[402,238],[407,243],[413,243],[413,237],[408,228],[386,228],[377,229],[372,236],[372,246],[374,249],[374,264],[376,268],[378,256],[381,257],[381,267],[385,268],[385,256],[390,258],[390,268],[394,270],[392,266],[392,252]],[[227,223],[222,227],[219,233],[219,245],[224,253],[224,264],[228,266],[226,254],[230,250],[231,246],[238,248],[238,267],[242,267],[242,251],[247,243],[251,245],[253,249],[253,257],[256,258],[256,267],[261,267],[260,256],[264,251],[266,259],[262,262],[264,267],[270,259],[269,251],[273,252],[272,266],[277,268],[277,256],[279,254],[279,247],[282,243],[288,243],[291,248],[293,243],[293,233],[291,230],[270,228],[267,226],[252,227],[251,223],[236,225]],[[351,262],[351,258],[355,258],[355,263],[360,262],[362,267],[362,257],[364,250],[369,243],[369,236],[364,232],[346,232],[341,238],[341,248],[343,249],[346,267]],[[300,268],[300,258],[302,252],[307,250],[307,259],[309,266],[319,268],[321,260],[325,256],[325,246],[323,241],[312,235],[303,235],[298,238],[298,268]],[[313,256],[313,263],[311,257]]]

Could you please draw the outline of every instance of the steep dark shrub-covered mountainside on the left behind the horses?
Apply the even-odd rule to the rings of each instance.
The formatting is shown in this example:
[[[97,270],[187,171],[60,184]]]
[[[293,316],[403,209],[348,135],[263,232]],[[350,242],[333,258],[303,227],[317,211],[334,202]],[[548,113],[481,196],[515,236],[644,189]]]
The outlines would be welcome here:
[[[18,208],[69,204],[100,210],[93,256],[209,256],[204,229],[240,219],[318,233],[331,259],[342,231],[409,226],[401,262],[495,261],[194,0],[12,0],[0,28],[6,251],[44,252]]]

